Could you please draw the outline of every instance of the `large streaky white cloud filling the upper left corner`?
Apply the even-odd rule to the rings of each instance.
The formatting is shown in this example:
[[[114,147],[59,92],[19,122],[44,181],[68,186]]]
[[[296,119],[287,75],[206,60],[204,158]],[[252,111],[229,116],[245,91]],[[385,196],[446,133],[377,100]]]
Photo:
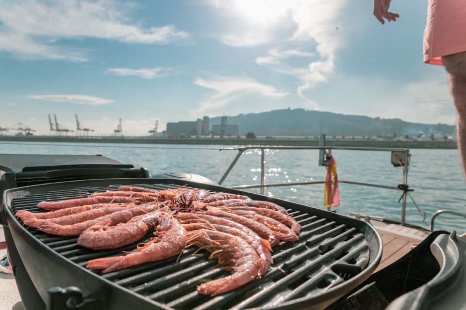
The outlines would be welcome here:
[[[143,28],[127,17],[134,5],[113,0],[0,2],[0,51],[31,59],[85,62],[82,49],[59,39],[98,38],[124,43],[168,44],[189,34],[173,25]]]

